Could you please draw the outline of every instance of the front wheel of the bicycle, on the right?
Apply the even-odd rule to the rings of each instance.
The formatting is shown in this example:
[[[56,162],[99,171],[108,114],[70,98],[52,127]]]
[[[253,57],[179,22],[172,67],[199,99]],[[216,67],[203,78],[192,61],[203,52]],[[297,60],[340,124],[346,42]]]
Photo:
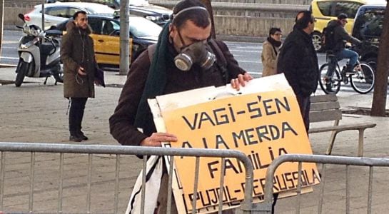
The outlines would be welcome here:
[[[375,74],[368,63],[359,63],[354,68],[355,73],[350,74],[350,83],[358,93],[369,93],[374,88]]]

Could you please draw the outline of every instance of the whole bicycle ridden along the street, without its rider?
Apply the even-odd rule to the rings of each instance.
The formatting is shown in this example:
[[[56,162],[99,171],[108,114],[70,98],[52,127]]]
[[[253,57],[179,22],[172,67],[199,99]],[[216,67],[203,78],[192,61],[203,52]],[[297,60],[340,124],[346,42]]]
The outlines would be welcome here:
[[[353,68],[353,72],[345,72],[345,66],[340,70],[338,60],[335,58],[332,51],[327,52],[328,63],[320,66],[320,88],[324,93],[338,93],[340,83],[348,84],[350,81],[351,87],[358,93],[369,93],[374,88],[375,73],[373,68],[366,62],[357,61]],[[332,63],[332,64],[331,64]],[[328,76],[328,69],[333,66],[335,71],[332,76]]]

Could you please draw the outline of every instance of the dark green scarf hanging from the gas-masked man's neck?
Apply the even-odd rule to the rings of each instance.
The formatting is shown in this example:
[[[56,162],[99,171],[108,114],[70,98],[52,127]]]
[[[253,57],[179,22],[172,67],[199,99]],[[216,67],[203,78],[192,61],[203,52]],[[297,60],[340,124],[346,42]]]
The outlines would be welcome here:
[[[156,51],[153,55],[153,61],[151,61],[150,69],[148,70],[146,85],[143,89],[141,101],[139,102],[138,110],[136,111],[135,116],[134,125],[138,128],[143,128],[143,133],[148,136],[155,132],[155,126],[153,123],[153,115],[148,107],[147,99],[162,95],[167,81],[166,61],[169,56],[169,24],[170,22],[166,23],[165,26],[163,26],[161,34],[159,34]]]

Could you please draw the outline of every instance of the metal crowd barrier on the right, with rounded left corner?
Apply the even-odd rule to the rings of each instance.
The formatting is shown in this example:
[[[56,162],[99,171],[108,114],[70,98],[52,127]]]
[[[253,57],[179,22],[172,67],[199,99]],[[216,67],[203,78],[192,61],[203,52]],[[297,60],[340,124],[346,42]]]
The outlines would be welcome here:
[[[285,162],[298,162],[298,171],[301,170],[301,163],[323,163],[323,164],[333,164],[333,165],[346,165],[346,195],[348,195],[348,165],[358,165],[358,166],[369,166],[369,193],[368,193],[368,213],[371,213],[371,185],[373,179],[373,166],[377,167],[389,167],[389,159],[388,158],[356,158],[356,157],[344,157],[344,156],[322,156],[322,155],[296,155],[296,154],[286,154],[283,156],[279,156],[274,159],[272,163],[269,165],[268,170],[266,171],[266,181],[273,180],[274,173],[276,173],[276,169],[279,165]],[[324,165],[322,176],[324,175]],[[299,175],[300,180],[300,175]],[[298,182],[298,187],[300,186],[300,182]],[[299,193],[299,190],[297,190]],[[323,185],[322,189],[320,189],[320,193],[323,193]],[[271,204],[273,198],[273,183],[266,182],[265,183],[265,193],[264,193],[264,202],[256,205],[256,210],[258,213],[271,213]],[[349,197],[346,197],[346,209],[349,210]],[[319,203],[319,211],[321,213],[321,207]],[[299,212],[297,210],[297,212]],[[348,213],[348,212],[346,212]]]

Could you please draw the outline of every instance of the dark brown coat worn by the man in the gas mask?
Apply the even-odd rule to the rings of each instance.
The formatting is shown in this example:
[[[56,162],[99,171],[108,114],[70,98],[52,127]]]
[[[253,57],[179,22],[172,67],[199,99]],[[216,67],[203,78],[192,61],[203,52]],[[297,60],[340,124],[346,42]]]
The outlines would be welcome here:
[[[238,66],[238,62],[228,50],[226,44],[222,41],[216,41],[221,49],[223,56],[226,58],[226,69],[228,76],[236,78],[238,74],[243,74],[244,71]],[[169,45],[169,50],[176,56],[178,53],[173,48],[173,44]],[[111,134],[122,145],[139,146],[141,141],[151,133],[141,133],[134,126],[136,111],[139,101],[148,78],[148,69],[150,68],[150,58],[148,58],[148,50],[136,58],[128,73],[128,78],[121,91],[121,96],[116,106],[115,113],[109,118]],[[221,71],[218,70],[217,63],[214,63],[207,71],[203,71],[198,66],[193,66],[189,71],[179,70],[173,63],[166,63],[167,67],[167,83],[164,87],[164,93],[175,93],[179,91],[187,91],[194,88],[206,86],[223,86],[226,80],[223,79]],[[151,117],[152,118],[152,117]],[[152,123],[152,121],[151,121]]]

